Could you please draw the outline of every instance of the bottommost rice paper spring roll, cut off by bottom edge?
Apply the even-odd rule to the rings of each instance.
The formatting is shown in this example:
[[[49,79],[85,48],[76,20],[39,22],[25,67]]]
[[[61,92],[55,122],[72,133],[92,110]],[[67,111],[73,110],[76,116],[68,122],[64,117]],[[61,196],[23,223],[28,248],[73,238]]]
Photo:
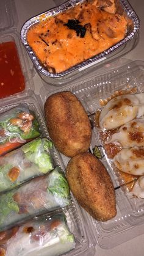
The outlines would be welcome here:
[[[41,216],[0,233],[0,256],[56,256],[74,247],[74,236],[64,214]]]

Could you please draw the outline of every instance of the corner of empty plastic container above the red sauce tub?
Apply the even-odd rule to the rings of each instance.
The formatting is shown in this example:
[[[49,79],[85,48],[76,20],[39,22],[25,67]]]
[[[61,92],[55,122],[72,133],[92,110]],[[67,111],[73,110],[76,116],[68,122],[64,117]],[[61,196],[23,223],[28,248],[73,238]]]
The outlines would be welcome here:
[[[0,32],[16,26],[17,22],[18,19],[15,10],[15,1],[0,1]]]

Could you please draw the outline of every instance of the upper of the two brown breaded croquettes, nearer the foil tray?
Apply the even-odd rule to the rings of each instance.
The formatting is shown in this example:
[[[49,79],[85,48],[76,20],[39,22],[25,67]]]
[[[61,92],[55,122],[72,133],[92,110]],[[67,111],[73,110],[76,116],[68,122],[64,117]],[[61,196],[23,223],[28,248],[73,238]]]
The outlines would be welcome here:
[[[49,136],[66,156],[86,152],[91,141],[91,126],[81,102],[71,92],[51,95],[45,103]]]

